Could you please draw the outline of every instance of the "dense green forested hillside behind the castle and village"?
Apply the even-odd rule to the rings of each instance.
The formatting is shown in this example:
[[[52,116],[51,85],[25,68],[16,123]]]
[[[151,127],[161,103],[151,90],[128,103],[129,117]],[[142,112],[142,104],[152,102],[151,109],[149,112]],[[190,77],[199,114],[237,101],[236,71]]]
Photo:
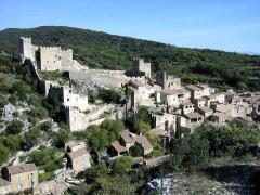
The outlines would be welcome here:
[[[74,57],[90,67],[129,69],[140,56],[152,69],[166,69],[184,82],[208,82],[214,87],[260,90],[260,56],[209,49],[178,48],[155,41],[115,36],[88,29],[43,26],[0,31],[0,51],[18,53],[18,37],[32,38],[39,46],[72,48]]]

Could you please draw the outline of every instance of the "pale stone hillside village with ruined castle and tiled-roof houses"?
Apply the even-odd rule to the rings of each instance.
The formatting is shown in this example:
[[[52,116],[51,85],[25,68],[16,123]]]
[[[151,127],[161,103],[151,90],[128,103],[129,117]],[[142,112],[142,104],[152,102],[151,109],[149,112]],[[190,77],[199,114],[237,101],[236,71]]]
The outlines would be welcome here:
[[[126,120],[145,107],[152,121],[150,134],[160,140],[164,154],[151,157],[155,150],[147,135],[125,129],[120,139],[107,148],[110,160],[129,155],[134,145],[142,155],[134,157],[136,165],[154,167],[169,158],[171,139],[193,133],[203,123],[226,126],[234,118],[259,121],[260,92],[237,93],[230,89],[220,92],[207,83],[183,84],[180,78],[165,70],[153,73],[152,64],[133,58],[132,69],[90,69],[74,60],[72,49],[38,47],[31,38],[20,39],[21,65],[29,61],[30,70],[39,91],[47,98],[57,95],[65,107],[65,123],[72,132],[84,131],[89,126],[101,125],[105,119]],[[47,80],[44,73],[67,72],[69,79]],[[90,103],[89,90],[115,89],[125,94],[122,104]],[[2,167],[0,194],[34,188],[34,194],[62,194],[81,181],[75,176],[91,167],[89,145],[70,140],[65,146],[66,168],[56,172],[55,180],[39,182],[40,170],[35,164]]]

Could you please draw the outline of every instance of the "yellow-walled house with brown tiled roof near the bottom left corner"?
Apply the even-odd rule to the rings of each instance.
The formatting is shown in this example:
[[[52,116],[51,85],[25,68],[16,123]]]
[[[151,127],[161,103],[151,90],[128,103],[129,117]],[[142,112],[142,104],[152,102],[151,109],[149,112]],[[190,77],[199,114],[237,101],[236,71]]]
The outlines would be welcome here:
[[[11,183],[12,192],[35,188],[38,184],[38,169],[35,164],[21,164],[3,169],[3,178]]]

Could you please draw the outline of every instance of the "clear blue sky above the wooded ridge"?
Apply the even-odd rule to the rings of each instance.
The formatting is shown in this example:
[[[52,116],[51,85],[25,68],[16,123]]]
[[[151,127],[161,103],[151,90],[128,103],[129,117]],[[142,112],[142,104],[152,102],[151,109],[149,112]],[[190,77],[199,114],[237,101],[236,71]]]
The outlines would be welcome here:
[[[0,30],[72,26],[178,47],[260,53],[260,0],[0,0]]]

